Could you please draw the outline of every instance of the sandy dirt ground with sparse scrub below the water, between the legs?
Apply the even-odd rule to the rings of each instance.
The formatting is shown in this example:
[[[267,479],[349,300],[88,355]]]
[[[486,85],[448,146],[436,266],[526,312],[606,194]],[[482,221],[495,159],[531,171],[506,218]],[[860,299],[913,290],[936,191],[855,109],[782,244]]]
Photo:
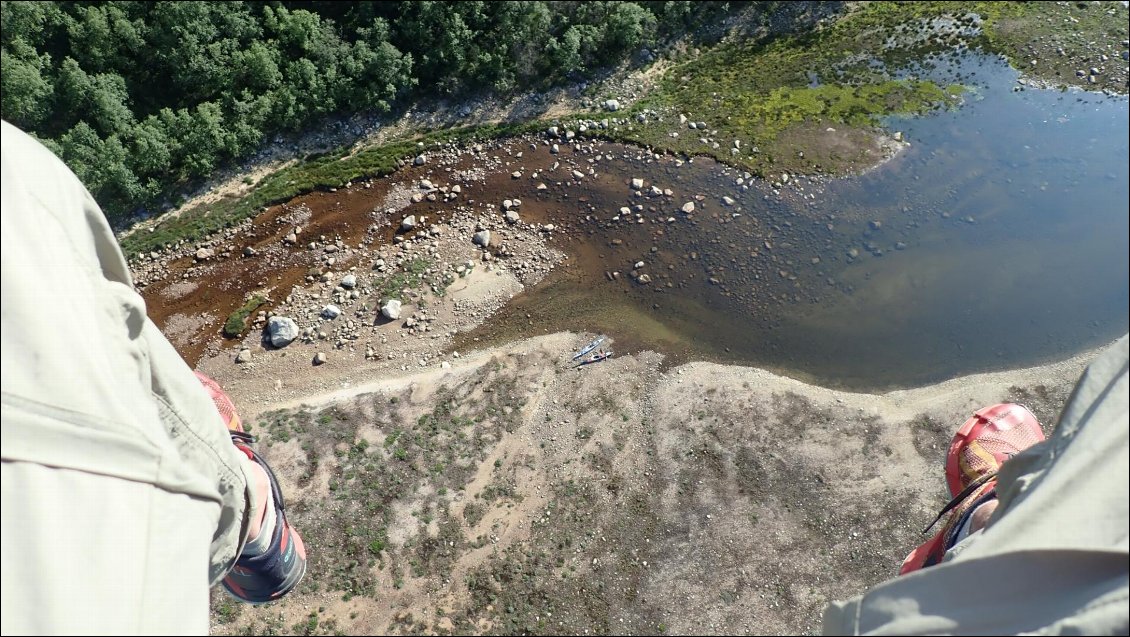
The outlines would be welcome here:
[[[1016,401],[1050,431],[1096,354],[875,395],[647,351],[579,368],[590,338],[276,401],[218,367],[310,569],[266,607],[217,591],[214,632],[818,632],[922,541],[953,430]]]

